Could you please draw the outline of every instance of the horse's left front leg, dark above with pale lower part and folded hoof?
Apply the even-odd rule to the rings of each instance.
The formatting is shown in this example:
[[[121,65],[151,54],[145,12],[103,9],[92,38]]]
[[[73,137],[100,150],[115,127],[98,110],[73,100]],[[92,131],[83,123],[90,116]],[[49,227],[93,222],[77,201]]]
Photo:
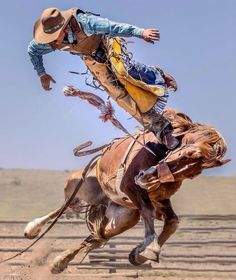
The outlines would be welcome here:
[[[146,260],[158,261],[160,246],[154,228],[155,209],[146,190],[135,186],[125,186],[123,191],[128,195],[133,204],[139,209],[144,221],[145,236],[142,244],[131,251],[130,261],[139,265]],[[132,262],[133,256],[136,261]],[[138,259],[140,256],[140,260]]]

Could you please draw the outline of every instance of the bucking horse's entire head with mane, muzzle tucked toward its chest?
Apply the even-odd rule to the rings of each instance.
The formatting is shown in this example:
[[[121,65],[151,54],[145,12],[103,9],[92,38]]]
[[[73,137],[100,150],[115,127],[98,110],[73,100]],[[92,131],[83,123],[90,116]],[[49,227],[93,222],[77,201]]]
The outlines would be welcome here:
[[[158,183],[193,178],[203,169],[221,166],[229,161],[223,159],[227,145],[215,128],[194,124],[185,114],[170,109],[165,116],[171,120],[173,134],[180,144],[156,167],[139,173],[136,182],[140,186],[147,188],[154,184],[158,186]]]

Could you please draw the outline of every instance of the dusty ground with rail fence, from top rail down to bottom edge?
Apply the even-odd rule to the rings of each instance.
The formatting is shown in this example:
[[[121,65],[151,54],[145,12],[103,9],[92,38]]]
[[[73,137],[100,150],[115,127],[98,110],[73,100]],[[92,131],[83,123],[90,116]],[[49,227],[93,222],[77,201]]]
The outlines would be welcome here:
[[[63,222],[65,221],[65,222]],[[23,238],[25,224],[1,223],[0,254],[1,259],[10,257],[20,248],[25,248],[31,240]],[[157,224],[157,232],[160,224]],[[63,250],[76,247],[86,236],[88,230],[84,224],[76,224],[74,220],[62,220],[47,235],[47,238],[36,244],[32,251],[12,260],[10,264],[0,265],[0,279],[4,280],[43,280],[43,279],[102,279],[107,276],[109,269],[97,270],[95,267],[85,268],[91,264],[91,254],[86,257],[84,267],[72,265],[60,275],[50,273],[50,265],[53,259]],[[17,236],[17,238],[10,238]],[[65,239],[64,237],[70,238]],[[74,237],[77,237],[76,239]],[[128,263],[129,251],[140,241],[143,236],[142,224],[120,235],[115,239],[115,251],[123,252],[123,257],[117,258],[118,264]],[[59,239],[59,237],[63,237]],[[136,239],[140,237],[139,240]],[[113,239],[112,239],[113,240]],[[111,240],[111,241],[112,241]],[[123,241],[124,244],[119,244]],[[143,280],[152,279],[236,279],[236,225],[235,216],[191,216],[181,217],[178,231],[164,245],[160,257],[160,263],[152,263],[152,267],[143,268],[129,266],[128,269],[117,269],[117,274],[109,274],[109,278],[127,279],[126,274]],[[127,244],[126,244],[127,242]],[[109,247],[106,245],[100,249],[100,253]],[[9,248],[11,252],[3,249]],[[13,251],[15,250],[15,251]],[[96,251],[95,251],[96,254]],[[116,256],[116,254],[115,254]],[[75,258],[75,262],[78,258]],[[18,263],[18,264],[17,264]],[[16,265],[17,264],[17,265]],[[109,265],[109,261],[107,264]],[[81,274],[83,274],[81,276]],[[103,277],[104,276],[104,277]]]

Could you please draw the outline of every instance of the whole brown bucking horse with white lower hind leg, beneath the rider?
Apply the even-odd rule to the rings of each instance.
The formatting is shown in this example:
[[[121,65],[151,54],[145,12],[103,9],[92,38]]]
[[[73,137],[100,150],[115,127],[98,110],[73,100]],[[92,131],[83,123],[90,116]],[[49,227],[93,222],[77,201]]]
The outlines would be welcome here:
[[[195,124],[188,116],[174,110],[167,110],[165,115],[171,120],[174,136],[180,141],[175,150],[168,153],[152,133],[140,133],[136,135],[139,143],[131,137],[114,141],[99,162],[90,167],[70,208],[80,211],[82,201],[90,205],[87,224],[91,235],[78,247],[57,257],[52,266],[53,273],[63,271],[79,252],[82,260],[92,249],[136,225],[140,217],[145,226],[144,241],[131,251],[129,260],[134,265],[147,260],[158,262],[160,248],[178,225],[170,197],[184,179],[194,178],[203,169],[228,162],[223,160],[226,143],[215,128]],[[140,142],[152,148],[156,156],[144,149]],[[77,172],[68,180],[66,198],[80,178],[81,172]],[[37,236],[42,226],[58,211],[30,222],[25,228],[25,236]],[[154,219],[164,221],[159,236],[155,233]]]

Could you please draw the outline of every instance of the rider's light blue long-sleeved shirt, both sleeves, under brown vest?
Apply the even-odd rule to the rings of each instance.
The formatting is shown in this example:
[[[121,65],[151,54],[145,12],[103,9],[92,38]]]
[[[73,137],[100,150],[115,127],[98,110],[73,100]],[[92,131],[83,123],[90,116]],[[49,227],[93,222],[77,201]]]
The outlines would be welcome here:
[[[126,23],[118,23],[110,21],[107,18],[101,18],[92,14],[80,13],[77,15],[77,20],[80,23],[83,31],[87,36],[92,34],[108,35],[110,37],[138,37],[141,38],[144,29]],[[73,43],[74,36],[68,34],[69,43]],[[67,42],[68,43],[68,42]],[[43,65],[43,55],[53,52],[54,49],[50,44],[40,44],[32,40],[28,46],[28,54],[34,69],[38,75],[46,73]]]

